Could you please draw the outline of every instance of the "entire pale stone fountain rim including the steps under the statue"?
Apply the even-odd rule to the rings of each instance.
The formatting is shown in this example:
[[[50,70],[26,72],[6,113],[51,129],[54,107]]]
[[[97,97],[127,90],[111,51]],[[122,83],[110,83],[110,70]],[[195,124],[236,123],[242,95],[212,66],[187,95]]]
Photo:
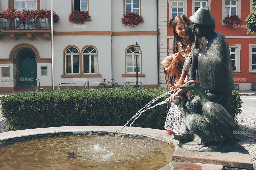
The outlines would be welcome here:
[[[9,138],[46,133],[91,131],[116,132],[121,128],[121,126],[65,126],[53,128],[26,129],[0,133],[0,141]],[[167,135],[165,130],[130,127],[126,133],[143,135],[165,141],[175,148],[175,152],[172,155],[172,162],[161,168],[161,170],[248,170],[253,168],[249,153],[245,148],[240,145],[238,145],[237,150],[234,152],[197,152],[189,151],[182,147],[179,147],[178,141],[171,139],[172,135]],[[70,155],[72,155],[72,153]]]

